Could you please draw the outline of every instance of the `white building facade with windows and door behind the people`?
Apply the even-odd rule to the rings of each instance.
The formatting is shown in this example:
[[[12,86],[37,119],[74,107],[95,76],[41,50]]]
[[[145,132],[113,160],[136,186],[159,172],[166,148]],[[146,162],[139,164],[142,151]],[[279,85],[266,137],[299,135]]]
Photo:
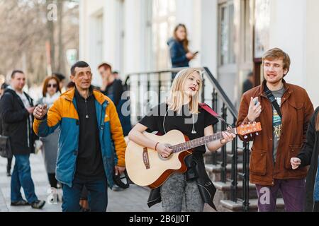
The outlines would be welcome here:
[[[235,105],[247,73],[262,81],[262,54],[279,47],[291,57],[286,81],[306,88],[316,107],[318,11],[318,0],[81,0],[79,59],[92,66],[95,85],[102,61],[122,78],[167,69],[167,40],[184,23],[190,49],[199,51],[191,66],[207,66]]]

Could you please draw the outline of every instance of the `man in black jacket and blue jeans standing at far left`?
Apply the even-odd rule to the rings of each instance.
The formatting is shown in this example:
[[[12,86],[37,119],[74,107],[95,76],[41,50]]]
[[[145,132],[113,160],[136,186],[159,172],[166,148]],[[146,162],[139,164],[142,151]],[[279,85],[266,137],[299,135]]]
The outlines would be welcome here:
[[[23,71],[13,71],[11,85],[1,97],[1,118],[4,132],[9,136],[11,150],[16,162],[11,177],[11,206],[43,208],[45,201],[35,195],[30,169],[30,153],[34,153],[35,133],[33,133],[33,100],[23,92],[26,75]],[[21,187],[26,201],[21,196]]]

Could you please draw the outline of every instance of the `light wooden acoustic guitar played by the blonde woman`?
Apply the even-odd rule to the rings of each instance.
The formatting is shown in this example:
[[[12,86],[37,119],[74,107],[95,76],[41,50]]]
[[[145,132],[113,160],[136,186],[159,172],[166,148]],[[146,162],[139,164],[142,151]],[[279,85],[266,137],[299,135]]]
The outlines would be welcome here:
[[[250,133],[257,133],[258,135],[261,130],[261,124],[258,122],[242,125],[235,129],[230,129],[228,132],[247,136]],[[128,142],[125,151],[125,165],[128,177],[135,184],[149,186],[151,189],[161,186],[174,172],[186,172],[187,167],[184,163],[184,158],[187,155],[191,155],[192,148],[223,138],[223,133],[221,132],[196,138],[192,141],[189,141],[189,138],[178,130],[169,131],[163,136],[146,132],[143,134],[152,141],[166,143],[173,150],[172,155],[163,158],[152,148],[142,147],[133,141]]]

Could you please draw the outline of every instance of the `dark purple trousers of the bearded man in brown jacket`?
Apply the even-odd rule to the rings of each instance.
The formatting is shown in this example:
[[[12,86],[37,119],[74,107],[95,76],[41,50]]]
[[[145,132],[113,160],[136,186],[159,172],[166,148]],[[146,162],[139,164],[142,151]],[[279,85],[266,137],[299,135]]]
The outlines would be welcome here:
[[[305,179],[275,179],[274,186],[256,184],[258,211],[274,212],[278,190],[284,198],[286,212],[302,212],[306,197]]]

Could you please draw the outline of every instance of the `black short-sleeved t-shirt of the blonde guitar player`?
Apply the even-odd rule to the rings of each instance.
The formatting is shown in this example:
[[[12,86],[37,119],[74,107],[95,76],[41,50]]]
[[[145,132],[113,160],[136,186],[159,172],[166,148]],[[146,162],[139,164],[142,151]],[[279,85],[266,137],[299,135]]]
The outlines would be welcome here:
[[[204,136],[204,129],[207,126],[218,123],[218,119],[216,119],[216,117],[213,117],[211,114],[206,112],[205,109],[198,107],[199,113],[194,114],[194,131],[196,131],[196,133],[191,133],[191,131],[193,131],[193,119],[191,113],[189,113],[188,107],[184,106],[180,114],[172,112],[172,110],[167,112],[167,109],[168,105],[165,103],[155,106],[144,118],[140,120],[140,124],[147,126],[147,132],[157,131],[162,135],[165,134],[165,131],[167,133],[168,131],[177,129],[184,133],[184,135],[188,136],[190,140],[194,140]],[[194,148],[194,151],[205,153],[205,145]]]

